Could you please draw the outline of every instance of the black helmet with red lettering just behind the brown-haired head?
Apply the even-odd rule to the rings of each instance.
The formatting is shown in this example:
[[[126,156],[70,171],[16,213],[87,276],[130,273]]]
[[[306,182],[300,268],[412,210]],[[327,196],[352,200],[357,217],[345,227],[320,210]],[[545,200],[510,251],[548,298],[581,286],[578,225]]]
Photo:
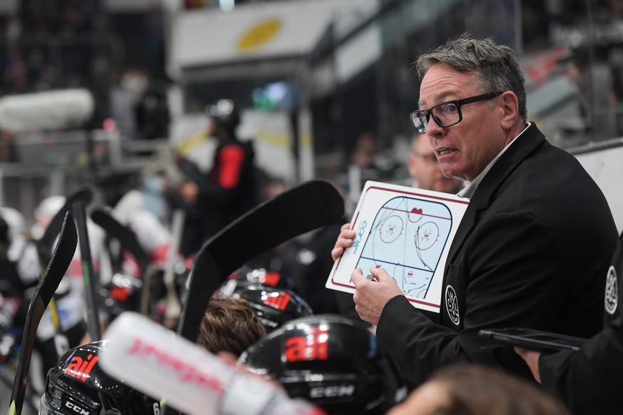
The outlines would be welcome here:
[[[307,302],[292,290],[257,282],[228,280],[218,290],[219,297],[245,299],[268,332],[285,322],[313,314]]]

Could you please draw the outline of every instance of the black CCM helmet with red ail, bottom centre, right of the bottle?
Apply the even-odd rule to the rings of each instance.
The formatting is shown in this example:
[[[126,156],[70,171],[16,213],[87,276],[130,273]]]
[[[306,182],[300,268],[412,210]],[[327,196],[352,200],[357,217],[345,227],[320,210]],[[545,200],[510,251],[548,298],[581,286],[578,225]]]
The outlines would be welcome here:
[[[397,377],[362,322],[336,314],[294,319],[240,355],[240,363],[329,414],[384,414]]]

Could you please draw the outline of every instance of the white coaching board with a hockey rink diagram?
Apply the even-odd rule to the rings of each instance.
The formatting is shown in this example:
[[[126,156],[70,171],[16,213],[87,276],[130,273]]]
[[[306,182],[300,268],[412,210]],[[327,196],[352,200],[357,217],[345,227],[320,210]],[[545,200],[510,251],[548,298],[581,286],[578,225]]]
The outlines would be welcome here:
[[[355,208],[353,247],[335,261],[325,287],[355,292],[350,275],[383,267],[414,307],[439,312],[450,242],[469,200],[448,193],[368,181]]]

